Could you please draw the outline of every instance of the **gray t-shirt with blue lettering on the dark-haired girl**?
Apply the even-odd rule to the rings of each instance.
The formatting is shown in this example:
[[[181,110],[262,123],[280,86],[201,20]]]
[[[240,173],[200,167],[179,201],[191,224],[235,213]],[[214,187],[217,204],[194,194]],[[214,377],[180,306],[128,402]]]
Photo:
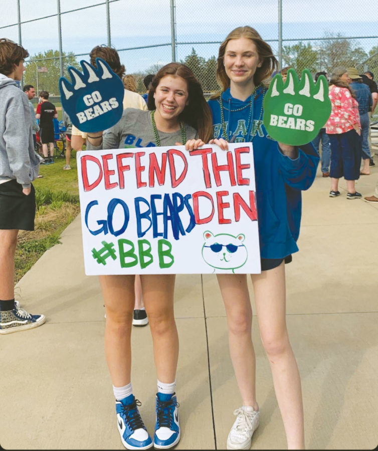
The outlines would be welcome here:
[[[198,138],[197,130],[185,125],[186,140]],[[160,146],[172,146],[181,142],[181,131],[165,133],[158,131]],[[184,142],[182,144],[185,144]],[[87,140],[87,150],[120,149],[123,147],[152,147],[156,146],[153,135],[151,112],[136,108],[123,110],[121,119],[103,133],[102,145],[92,146]]]

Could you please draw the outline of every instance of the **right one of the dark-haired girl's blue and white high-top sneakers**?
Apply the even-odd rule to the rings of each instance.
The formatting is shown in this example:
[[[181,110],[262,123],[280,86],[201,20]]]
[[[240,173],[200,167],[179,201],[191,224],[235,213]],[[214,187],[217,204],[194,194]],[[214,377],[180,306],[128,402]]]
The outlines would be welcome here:
[[[155,448],[172,448],[180,441],[178,407],[175,393],[156,393],[156,424],[153,436]]]

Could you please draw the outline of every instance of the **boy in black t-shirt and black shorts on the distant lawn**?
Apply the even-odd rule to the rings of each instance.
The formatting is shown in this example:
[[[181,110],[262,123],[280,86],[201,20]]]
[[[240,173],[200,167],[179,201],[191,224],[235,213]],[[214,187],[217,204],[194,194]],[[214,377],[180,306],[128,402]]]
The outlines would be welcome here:
[[[54,163],[55,132],[53,119],[58,118],[58,113],[55,106],[49,102],[49,93],[47,91],[41,91],[39,97],[41,102],[37,105],[36,118],[40,120],[40,138],[42,152],[45,157],[45,161],[42,161],[41,164]]]

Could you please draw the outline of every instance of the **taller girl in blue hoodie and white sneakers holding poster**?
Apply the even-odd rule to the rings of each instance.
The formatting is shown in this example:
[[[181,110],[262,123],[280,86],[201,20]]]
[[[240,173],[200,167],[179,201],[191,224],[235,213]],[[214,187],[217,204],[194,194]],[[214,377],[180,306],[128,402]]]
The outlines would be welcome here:
[[[298,251],[300,191],[311,186],[319,155],[312,144],[295,147],[267,136],[263,125],[263,100],[268,95],[262,82],[276,67],[270,46],[254,29],[240,27],[228,35],[220,47],[217,67],[217,80],[223,92],[209,100],[216,138],[210,143],[227,150],[227,142],[253,142],[262,270],[261,274],[251,275],[257,317],[288,448],[303,449],[301,382],[285,320],[285,263]],[[282,86],[282,81],[280,83]],[[283,94],[275,95],[278,99]],[[298,105],[297,111],[292,108],[295,116],[301,112],[301,100],[291,98],[295,99],[291,100],[292,107]],[[306,96],[306,102],[311,102],[311,98]],[[287,111],[288,105],[285,104]],[[271,112],[284,114],[284,111]],[[318,125],[320,128],[324,124]],[[305,127],[303,129],[306,133]],[[282,130],[286,136],[292,134],[292,131]],[[309,142],[312,138],[306,141],[304,135],[303,139],[302,142]],[[288,141],[290,139],[285,142]],[[193,141],[186,147],[192,150],[196,145],[198,143]],[[252,308],[247,278],[241,274],[222,274],[218,275],[218,282],[226,307],[231,360],[242,397],[242,406],[234,412],[237,418],[227,438],[227,449],[249,449],[252,434],[259,424],[260,410],[255,390]]]

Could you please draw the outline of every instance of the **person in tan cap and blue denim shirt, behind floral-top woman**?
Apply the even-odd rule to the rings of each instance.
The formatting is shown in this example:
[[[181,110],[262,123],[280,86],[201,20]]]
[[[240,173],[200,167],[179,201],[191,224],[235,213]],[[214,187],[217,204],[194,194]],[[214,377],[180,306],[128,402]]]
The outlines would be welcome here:
[[[361,121],[361,150],[363,167],[359,173],[361,175],[369,175],[371,153],[368,142],[370,128],[368,111],[373,103],[373,100],[369,88],[364,83],[362,83],[362,78],[358,74],[357,69],[354,67],[348,67],[347,71],[349,78],[352,80],[350,82],[350,87],[352,88],[358,102],[358,112]]]

